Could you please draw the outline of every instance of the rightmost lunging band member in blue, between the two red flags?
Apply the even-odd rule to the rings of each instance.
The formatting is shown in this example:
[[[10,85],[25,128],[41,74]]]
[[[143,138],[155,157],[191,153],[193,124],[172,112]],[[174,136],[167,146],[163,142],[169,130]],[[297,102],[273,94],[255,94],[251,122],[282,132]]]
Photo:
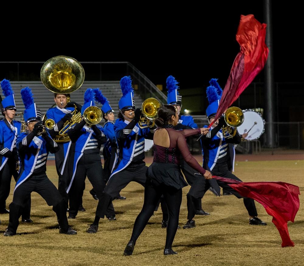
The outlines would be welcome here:
[[[216,115],[216,111],[219,107],[219,100],[222,97],[223,91],[217,83],[217,79],[211,79],[209,83],[210,86],[207,87],[209,106],[206,109],[206,116],[208,117],[209,123],[211,123]],[[231,173],[235,156],[233,144],[240,143],[241,138],[237,132],[233,138],[225,138],[221,130],[224,125],[226,125],[224,117],[221,117],[212,125],[209,133],[202,137],[203,167],[209,170],[212,175],[241,181]],[[207,128],[208,126],[205,125],[204,127]],[[218,180],[216,181],[220,187],[234,194],[237,198],[243,198],[227,184]],[[209,185],[203,183],[201,178],[198,178],[188,194],[192,196],[200,195],[200,197],[203,197],[208,189]],[[243,198],[243,201],[249,214],[249,224],[267,225],[266,222],[257,218],[257,209],[255,207],[254,200],[251,198]],[[186,223],[186,225],[188,225],[187,228],[195,227],[195,221],[192,220],[194,217],[193,212],[193,210],[191,211],[188,209],[189,220]]]

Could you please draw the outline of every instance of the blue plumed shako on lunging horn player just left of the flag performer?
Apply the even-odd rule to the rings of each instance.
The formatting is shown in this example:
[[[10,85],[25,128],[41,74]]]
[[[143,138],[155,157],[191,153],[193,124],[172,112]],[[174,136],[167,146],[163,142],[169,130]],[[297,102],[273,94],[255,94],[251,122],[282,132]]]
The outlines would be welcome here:
[[[124,76],[120,80],[120,88],[123,96],[118,102],[119,110],[123,111],[131,108],[135,110],[135,101],[133,100],[134,90],[132,88],[132,79],[130,76]]]

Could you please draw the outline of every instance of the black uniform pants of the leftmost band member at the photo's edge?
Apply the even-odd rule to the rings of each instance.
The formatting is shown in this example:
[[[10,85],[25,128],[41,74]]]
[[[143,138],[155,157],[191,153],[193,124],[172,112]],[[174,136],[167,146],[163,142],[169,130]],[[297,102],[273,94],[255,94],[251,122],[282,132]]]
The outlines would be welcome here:
[[[5,201],[9,196],[11,189],[12,176],[15,181],[17,180],[18,173],[16,171],[16,161],[14,159],[8,159],[3,168],[0,171],[0,212],[6,208]],[[22,219],[29,219],[31,213],[31,198],[27,201],[26,205],[22,209]]]

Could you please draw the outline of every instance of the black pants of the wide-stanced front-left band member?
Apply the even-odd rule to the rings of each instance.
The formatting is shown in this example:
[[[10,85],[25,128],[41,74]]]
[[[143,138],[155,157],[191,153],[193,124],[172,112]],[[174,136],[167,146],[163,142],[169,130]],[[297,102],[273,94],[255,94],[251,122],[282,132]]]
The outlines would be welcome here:
[[[8,229],[16,233],[21,210],[33,191],[40,194],[40,196],[47,202],[47,205],[53,206],[53,211],[56,212],[59,226],[63,230],[67,230],[68,222],[63,198],[55,185],[47,178],[45,173],[40,175],[31,175],[14,191],[13,201],[9,205],[10,212]]]

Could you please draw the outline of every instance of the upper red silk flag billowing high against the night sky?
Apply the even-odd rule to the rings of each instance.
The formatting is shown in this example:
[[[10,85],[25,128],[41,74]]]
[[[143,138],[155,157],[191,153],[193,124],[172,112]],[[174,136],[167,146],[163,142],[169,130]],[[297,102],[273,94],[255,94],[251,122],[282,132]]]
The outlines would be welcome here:
[[[254,15],[241,15],[236,35],[236,40],[240,44],[240,52],[234,59],[214,121],[237,100],[264,68],[268,57],[265,35],[266,24],[258,22]],[[209,125],[209,128],[212,124]]]

